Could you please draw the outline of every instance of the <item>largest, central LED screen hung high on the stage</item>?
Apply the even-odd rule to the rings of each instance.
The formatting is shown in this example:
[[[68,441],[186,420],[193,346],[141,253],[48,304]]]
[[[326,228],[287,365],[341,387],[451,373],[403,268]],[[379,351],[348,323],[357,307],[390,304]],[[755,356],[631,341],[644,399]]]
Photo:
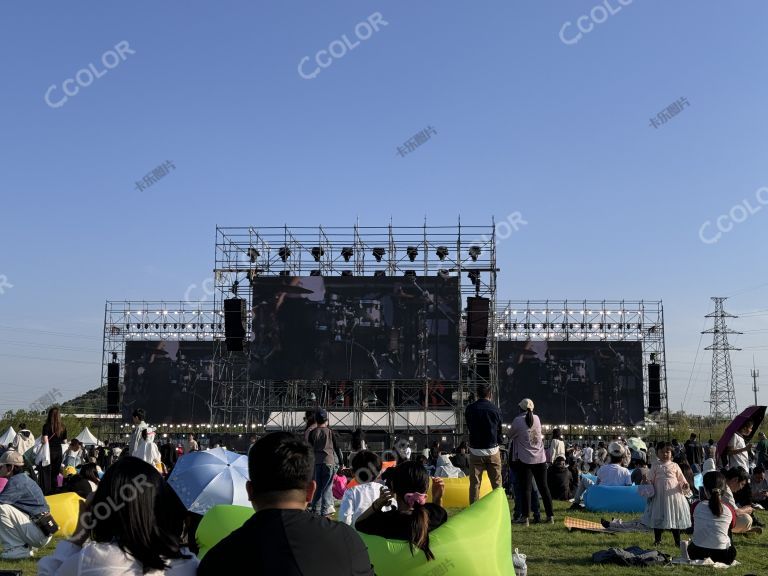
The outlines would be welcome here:
[[[459,282],[442,277],[255,278],[251,378],[459,377]]]

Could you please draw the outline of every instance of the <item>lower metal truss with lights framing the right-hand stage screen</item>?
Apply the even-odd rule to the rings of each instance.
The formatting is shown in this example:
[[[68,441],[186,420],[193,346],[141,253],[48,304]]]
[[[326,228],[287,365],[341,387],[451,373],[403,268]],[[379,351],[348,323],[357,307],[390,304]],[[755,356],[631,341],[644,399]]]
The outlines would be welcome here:
[[[649,401],[648,364],[656,363],[661,375],[660,413],[669,420],[664,307],[660,300],[503,301],[496,307],[493,331],[497,342],[641,342],[644,405],[647,407]]]

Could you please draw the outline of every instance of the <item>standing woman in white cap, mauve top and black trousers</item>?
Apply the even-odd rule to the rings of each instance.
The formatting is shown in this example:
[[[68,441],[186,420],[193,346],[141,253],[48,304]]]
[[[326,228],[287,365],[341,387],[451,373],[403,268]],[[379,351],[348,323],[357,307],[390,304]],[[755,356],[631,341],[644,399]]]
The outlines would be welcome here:
[[[544,442],[541,435],[541,421],[533,413],[533,400],[523,398],[518,404],[521,414],[512,421],[509,432],[510,439],[515,443],[518,457],[517,479],[523,496],[520,518],[515,522],[528,526],[528,514],[531,509],[531,479],[536,480],[544,500],[544,510],[547,513],[547,524],[555,523],[552,510],[552,496],[547,485],[547,457],[544,454]]]

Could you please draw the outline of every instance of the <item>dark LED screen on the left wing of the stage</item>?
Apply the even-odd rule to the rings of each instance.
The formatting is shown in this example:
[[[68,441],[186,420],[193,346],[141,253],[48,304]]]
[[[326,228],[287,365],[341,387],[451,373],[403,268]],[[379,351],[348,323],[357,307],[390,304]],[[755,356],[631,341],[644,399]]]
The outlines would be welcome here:
[[[127,342],[123,416],[143,408],[152,423],[209,422],[212,379],[212,342]]]

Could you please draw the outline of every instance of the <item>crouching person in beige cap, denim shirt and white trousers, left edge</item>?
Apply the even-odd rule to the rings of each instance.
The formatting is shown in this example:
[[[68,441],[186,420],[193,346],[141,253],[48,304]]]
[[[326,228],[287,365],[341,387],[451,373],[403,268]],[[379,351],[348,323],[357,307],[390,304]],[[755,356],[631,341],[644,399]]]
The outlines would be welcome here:
[[[32,519],[50,513],[50,508],[40,486],[24,472],[24,458],[18,452],[9,450],[0,456],[0,477],[8,479],[0,492],[0,558],[31,558],[51,541]]]

